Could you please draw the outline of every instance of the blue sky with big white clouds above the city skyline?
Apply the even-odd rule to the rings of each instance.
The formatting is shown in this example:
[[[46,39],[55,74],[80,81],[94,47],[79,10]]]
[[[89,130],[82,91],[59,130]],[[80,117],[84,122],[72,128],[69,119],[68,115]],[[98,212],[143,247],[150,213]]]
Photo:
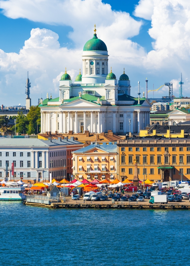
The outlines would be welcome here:
[[[0,0],[0,105],[26,104],[29,71],[32,105],[59,95],[59,79],[75,79],[84,44],[97,37],[108,48],[109,67],[131,81],[131,95],[173,82],[173,95],[190,97],[189,0]],[[164,86],[155,97],[168,96]],[[153,97],[150,92],[148,97]]]

